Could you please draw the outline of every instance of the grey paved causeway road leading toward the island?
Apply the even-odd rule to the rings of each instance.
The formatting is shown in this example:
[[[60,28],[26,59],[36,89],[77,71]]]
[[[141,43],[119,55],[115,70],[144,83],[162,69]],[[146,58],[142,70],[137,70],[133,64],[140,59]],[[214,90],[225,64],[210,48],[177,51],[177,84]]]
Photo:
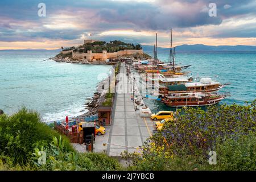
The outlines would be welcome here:
[[[121,64],[120,73],[124,73],[118,80],[118,93],[114,103],[114,118],[110,126],[108,145],[106,148],[109,156],[120,156],[122,151],[133,152],[138,146],[151,136],[154,123],[149,118],[141,118],[139,111],[135,111],[131,101],[131,89],[126,77],[125,64]],[[105,138],[106,139],[106,138]],[[97,142],[96,142],[97,143]]]

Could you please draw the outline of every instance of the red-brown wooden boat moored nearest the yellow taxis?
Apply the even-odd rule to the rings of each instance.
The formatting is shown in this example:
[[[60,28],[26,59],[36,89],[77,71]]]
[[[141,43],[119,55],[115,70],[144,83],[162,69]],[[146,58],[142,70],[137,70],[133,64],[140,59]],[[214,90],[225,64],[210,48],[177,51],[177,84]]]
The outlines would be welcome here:
[[[183,106],[208,106],[218,104],[224,100],[226,94],[209,94],[203,92],[174,94],[172,96],[163,97],[161,102],[170,107]]]

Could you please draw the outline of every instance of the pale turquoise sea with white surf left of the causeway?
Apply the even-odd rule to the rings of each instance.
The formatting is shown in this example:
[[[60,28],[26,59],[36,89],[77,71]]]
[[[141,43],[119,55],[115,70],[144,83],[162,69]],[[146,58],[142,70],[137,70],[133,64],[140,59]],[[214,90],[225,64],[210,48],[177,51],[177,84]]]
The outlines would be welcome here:
[[[0,109],[13,114],[22,106],[37,110],[45,121],[85,112],[92,97],[110,73],[109,65],[55,63],[46,60],[56,51],[0,51]]]

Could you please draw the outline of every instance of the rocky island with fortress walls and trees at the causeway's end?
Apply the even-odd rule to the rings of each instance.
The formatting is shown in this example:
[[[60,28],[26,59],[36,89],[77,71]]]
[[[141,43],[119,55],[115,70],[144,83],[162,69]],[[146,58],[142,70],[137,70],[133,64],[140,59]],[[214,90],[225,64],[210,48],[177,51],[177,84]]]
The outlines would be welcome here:
[[[58,55],[51,58],[56,62],[80,64],[110,64],[113,59],[151,59],[143,52],[140,44],[124,43],[120,40],[106,43],[100,40],[84,40],[78,47],[63,48]]]

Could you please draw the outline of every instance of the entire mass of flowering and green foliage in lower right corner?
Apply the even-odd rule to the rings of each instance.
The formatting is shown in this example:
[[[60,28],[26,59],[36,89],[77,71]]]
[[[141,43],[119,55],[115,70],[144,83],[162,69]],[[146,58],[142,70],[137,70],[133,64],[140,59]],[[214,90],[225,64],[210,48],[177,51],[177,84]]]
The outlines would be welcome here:
[[[255,170],[255,103],[179,110],[140,153],[123,157],[135,170]],[[216,165],[208,163],[209,151],[216,151]]]

